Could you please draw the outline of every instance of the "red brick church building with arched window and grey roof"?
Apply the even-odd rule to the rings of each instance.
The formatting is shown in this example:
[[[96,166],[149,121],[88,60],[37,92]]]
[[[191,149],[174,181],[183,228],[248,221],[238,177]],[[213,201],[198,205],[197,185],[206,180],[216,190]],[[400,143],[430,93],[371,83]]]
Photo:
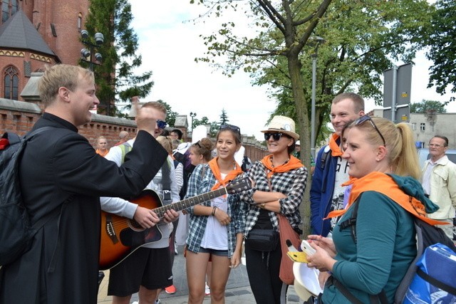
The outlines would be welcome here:
[[[31,73],[45,65],[77,65],[89,0],[2,0],[0,98],[24,100]]]

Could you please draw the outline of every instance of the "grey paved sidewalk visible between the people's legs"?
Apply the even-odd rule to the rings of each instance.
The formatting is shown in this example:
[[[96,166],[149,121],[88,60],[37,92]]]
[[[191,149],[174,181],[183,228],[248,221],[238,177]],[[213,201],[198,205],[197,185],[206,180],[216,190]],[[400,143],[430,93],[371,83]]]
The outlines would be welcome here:
[[[188,298],[188,288],[187,288],[187,275],[185,273],[185,258],[182,254],[183,246],[178,247],[179,254],[175,256],[174,266],[172,268],[172,273],[174,275],[173,281],[177,289],[177,292],[173,295],[168,295],[163,291],[160,293],[160,300],[162,304],[185,304],[187,303]],[[105,271],[105,278],[100,284],[100,292],[98,293],[98,303],[99,304],[108,304],[111,303],[111,297],[106,295],[108,292],[108,278],[109,271]],[[135,294],[132,296],[130,302],[137,301],[138,295]],[[289,286],[287,293],[286,303],[302,303],[303,301],[299,299],[299,296],[296,295],[294,287]],[[204,298],[204,304],[210,303],[210,297]],[[247,304],[255,303],[254,295],[249,285],[249,278],[247,277],[247,269],[244,265],[240,265],[237,268],[233,269],[229,274],[227,291],[226,291],[226,300],[227,304]]]

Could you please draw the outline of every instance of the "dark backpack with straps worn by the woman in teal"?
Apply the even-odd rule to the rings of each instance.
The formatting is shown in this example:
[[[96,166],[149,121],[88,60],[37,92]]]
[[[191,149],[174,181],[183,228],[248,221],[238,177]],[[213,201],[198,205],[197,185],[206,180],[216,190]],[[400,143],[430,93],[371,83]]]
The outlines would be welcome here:
[[[362,194],[361,194],[362,195]],[[361,195],[358,196],[358,199],[353,202],[353,213],[351,214],[350,219],[346,219],[345,221],[341,222],[340,226],[341,229],[345,229],[347,227],[351,227],[351,236],[353,238],[353,241],[357,243],[357,238],[356,238],[356,218],[358,217],[358,206],[359,206],[359,199],[361,198]],[[418,260],[420,260],[421,256],[423,256],[425,249],[431,245],[434,245],[435,243],[442,243],[443,245],[447,246],[450,248],[452,251],[456,253],[456,246],[455,243],[453,243],[450,238],[443,232],[442,229],[432,226],[430,224],[427,224],[425,221],[418,219],[418,217],[413,216],[413,221],[415,225],[415,231],[416,231],[416,239],[417,239],[417,253],[415,258],[413,259],[412,263],[410,263],[410,266],[408,267],[407,272],[405,273],[405,276],[403,277],[402,281],[400,281],[400,284],[398,286],[398,289],[396,290],[395,296],[394,296],[394,303],[403,303],[403,300],[405,298],[405,294],[407,293],[408,287],[410,286],[410,283],[412,283],[413,278],[415,276],[415,273],[418,273],[419,276],[421,276],[425,281],[427,282],[432,282],[432,285],[437,286],[438,288],[445,290],[446,289],[446,284],[438,281],[435,278],[430,277],[427,274],[423,275],[423,271],[420,271],[418,266],[416,266],[416,263]],[[445,267],[445,266],[442,266]],[[421,274],[420,274],[421,273]],[[347,289],[345,288],[340,282],[336,280],[336,278],[333,278],[333,283],[338,288],[341,290],[341,293],[348,298],[348,300],[351,300],[352,303],[361,303],[355,296]],[[388,300],[386,298],[385,290],[382,290],[378,295],[370,295],[371,298],[371,303],[388,303]]]

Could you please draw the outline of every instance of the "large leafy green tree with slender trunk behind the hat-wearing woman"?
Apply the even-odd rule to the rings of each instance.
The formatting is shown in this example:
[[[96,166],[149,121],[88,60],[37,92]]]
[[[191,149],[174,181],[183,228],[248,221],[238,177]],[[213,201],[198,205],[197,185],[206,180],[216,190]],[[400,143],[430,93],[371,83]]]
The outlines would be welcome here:
[[[247,6],[242,6],[245,2]],[[203,4],[210,9],[208,16],[221,16],[228,9],[247,16],[256,36],[237,31],[233,21],[224,22],[217,33],[203,36],[208,49],[197,61],[222,68],[226,75],[242,68],[255,84],[271,85],[271,95],[279,101],[274,114],[296,120],[306,164],[311,162],[311,54],[316,48],[311,37],[328,41],[318,49],[316,117],[321,128],[338,93],[357,88],[361,95],[380,100],[378,71],[390,67],[390,58],[413,58],[428,6],[425,0],[219,0]],[[227,61],[219,63],[217,56],[225,56]],[[377,70],[372,70],[373,65]],[[308,184],[304,201],[309,200],[309,188]],[[301,206],[304,231],[309,231],[309,206]]]

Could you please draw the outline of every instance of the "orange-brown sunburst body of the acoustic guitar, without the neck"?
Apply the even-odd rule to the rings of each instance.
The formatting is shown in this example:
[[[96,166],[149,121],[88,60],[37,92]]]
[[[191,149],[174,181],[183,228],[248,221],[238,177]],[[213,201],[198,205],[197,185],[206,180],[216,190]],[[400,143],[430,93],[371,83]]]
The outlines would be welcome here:
[[[131,200],[147,209],[162,206],[160,197],[152,190],[144,190]],[[162,239],[158,226],[144,229],[133,219],[101,211],[100,270],[114,267],[145,243]]]

